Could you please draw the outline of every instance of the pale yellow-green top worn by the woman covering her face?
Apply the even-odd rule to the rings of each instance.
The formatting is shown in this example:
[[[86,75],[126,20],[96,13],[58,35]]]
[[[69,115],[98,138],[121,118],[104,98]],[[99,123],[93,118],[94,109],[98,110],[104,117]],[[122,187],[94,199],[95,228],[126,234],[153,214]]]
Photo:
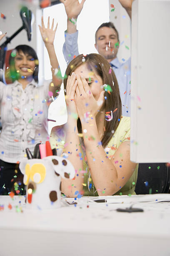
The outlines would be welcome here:
[[[62,132],[62,129],[59,133],[57,131],[57,134],[53,132],[50,138],[50,143],[52,148],[54,148],[54,146],[57,148],[57,150],[59,148],[64,148],[64,143],[65,143],[64,137],[65,135]],[[124,141],[130,141],[130,117],[122,116],[114,135],[112,136],[111,140],[105,147],[105,152],[109,159],[113,157],[117,148]],[[98,196],[98,193],[95,189],[92,179],[90,178],[90,172],[88,170],[87,162],[84,159],[83,151],[82,151],[82,158],[83,158],[83,170],[85,171],[84,184],[86,184],[86,186],[83,186],[84,196]],[[132,176],[128,180],[128,182],[126,182],[126,184],[114,195],[129,195],[129,194],[135,195],[135,184],[137,182],[137,177],[138,177],[138,164]]]

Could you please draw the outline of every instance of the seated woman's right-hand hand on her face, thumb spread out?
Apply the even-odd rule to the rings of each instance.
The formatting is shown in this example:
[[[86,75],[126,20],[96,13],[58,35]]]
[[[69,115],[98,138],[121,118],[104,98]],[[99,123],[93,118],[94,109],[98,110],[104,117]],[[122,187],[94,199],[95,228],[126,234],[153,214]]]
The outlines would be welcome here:
[[[81,121],[85,120],[88,115],[92,115],[92,117],[95,118],[98,113],[97,111],[100,110],[104,102],[105,91],[100,92],[98,100],[95,100],[85,77],[77,75],[77,82],[75,104],[78,116]]]

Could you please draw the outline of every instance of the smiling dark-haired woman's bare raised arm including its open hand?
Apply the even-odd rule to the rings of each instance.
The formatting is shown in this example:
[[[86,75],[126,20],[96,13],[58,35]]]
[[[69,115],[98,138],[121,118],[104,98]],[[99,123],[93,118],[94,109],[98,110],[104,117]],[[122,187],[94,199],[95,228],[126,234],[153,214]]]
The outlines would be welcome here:
[[[49,85],[49,91],[53,93],[53,97],[57,97],[58,93],[56,91],[60,90],[62,79],[60,76],[57,76],[57,73],[60,74],[60,67],[58,64],[57,56],[55,54],[54,49],[54,38],[55,32],[57,30],[57,25],[54,28],[54,19],[52,20],[52,26],[50,28],[50,17],[48,17],[47,28],[45,28],[43,17],[42,17],[42,26],[39,25],[40,33],[42,36],[42,40],[45,43],[45,47],[47,48],[48,55],[50,58],[51,71],[52,71],[52,82]]]

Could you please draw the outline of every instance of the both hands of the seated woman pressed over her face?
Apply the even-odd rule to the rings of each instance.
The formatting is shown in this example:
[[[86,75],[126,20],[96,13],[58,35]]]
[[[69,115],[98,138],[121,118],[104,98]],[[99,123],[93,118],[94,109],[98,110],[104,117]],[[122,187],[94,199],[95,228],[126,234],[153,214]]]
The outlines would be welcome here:
[[[78,74],[68,76],[66,92],[67,109],[73,113],[76,111],[80,120],[84,119],[86,113],[95,117],[104,102],[105,91],[100,92],[99,98],[95,100],[85,77]]]

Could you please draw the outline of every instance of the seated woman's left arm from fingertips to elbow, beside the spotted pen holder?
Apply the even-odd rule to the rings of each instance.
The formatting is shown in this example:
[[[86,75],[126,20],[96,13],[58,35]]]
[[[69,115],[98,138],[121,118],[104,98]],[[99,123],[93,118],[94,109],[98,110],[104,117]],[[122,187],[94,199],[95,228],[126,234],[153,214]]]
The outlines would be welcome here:
[[[71,76],[67,78],[66,87],[66,104],[67,104],[67,114],[68,120],[65,124],[65,148],[64,152],[67,154],[68,160],[71,161],[75,168],[75,179],[62,179],[61,192],[66,196],[76,197],[75,191],[82,190],[82,183],[84,181],[83,176],[83,164],[81,159],[81,149],[80,141],[77,130],[77,109],[75,106],[75,90],[77,87],[76,75],[72,73]],[[72,186],[74,184],[74,186]]]

